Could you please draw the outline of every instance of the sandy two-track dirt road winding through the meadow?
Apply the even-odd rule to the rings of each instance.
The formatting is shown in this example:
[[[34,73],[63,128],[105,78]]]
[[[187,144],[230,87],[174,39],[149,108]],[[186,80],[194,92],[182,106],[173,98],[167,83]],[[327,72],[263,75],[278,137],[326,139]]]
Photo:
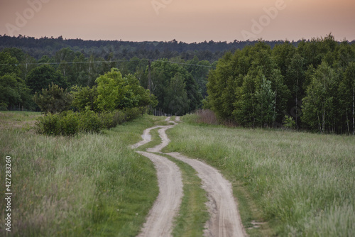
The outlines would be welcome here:
[[[167,118],[166,121],[169,121]],[[180,121],[176,117],[175,121]],[[177,123],[169,126],[154,126],[143,132],[143,140],[132,148],[138,148],[151,141],[150,131],[160,128],[158,133],[162,143],[154,148],[148,148],[147,152],[137,151],[141,155],[151,159],[158,174],[159,195],[151,209],[146,223],[139,237],[143,236],[171,236],[173,219],[178,214],[182,198],[181,172],[174,162],[168,158],[154,154],[161,153],[170,142],[165,131],[173,128]],[[241,224],[236,200],[233,197],[231,184],[216,170],[200,160],[187,158],[180,153],[168,153],[173,158],[191,165],[202,180],[202,187],[206,190],[209,202],[207,203],[210,219],[207,221],[204,236],[246,236]]]

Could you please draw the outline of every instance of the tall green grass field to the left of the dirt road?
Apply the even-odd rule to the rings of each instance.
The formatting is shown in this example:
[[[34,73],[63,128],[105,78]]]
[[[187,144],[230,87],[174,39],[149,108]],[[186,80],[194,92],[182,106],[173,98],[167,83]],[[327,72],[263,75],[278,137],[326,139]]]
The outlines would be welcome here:
[[[4,186],[4,160],[10,155],[11,236],[138,234],[158,183],[153,164],[128,147],[154,119],[144,116],[102,134],[72,138],[6,123],[0,134],[0,183]],[[0,236],[8,234],[4,206],[2,199]]]

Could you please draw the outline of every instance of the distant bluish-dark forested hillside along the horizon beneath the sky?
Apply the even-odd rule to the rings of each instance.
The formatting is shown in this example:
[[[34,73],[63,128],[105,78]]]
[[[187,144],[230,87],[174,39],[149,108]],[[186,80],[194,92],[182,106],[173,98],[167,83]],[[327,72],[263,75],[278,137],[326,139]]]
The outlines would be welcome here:
[[[266,41],[271,48],[276,44],[283,43],[283,40]],[[293,42],[297,45],[300,41]],[[81,39],[63,39],[58,38],[33,38],[19,35],[11,37],[8,35],[0,35],[0,51],[4,48],[21,48],[26,53],[40,59],[43,55],[53,56],[62,48],[70,48],[75,52],[84,53],[86,57],[93,55],[94,57],[107,58],[113,53],[113,58],[131,59],[138,58],[172,58],[181,57],[183,60],[191,60],[197,56],[200,60],[208,60],[209,62],[217,61],[226,51],[234,51],[242,49],[246,45],[254,45],[257,41],[237,41],[232,43],[204,41],[202,43],[183,43],[176,40],[169,42],[131,42],[121,40],[81,40]]]

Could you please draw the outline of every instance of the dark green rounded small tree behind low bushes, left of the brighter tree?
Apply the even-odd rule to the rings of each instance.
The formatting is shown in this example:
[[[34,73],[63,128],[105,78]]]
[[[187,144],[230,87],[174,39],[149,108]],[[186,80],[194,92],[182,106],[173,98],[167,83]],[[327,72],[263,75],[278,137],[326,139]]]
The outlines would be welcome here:
[[[67,90],[60,88],[53,82],[48,89],[42,89],[42,94],[36,92],[33,100],[45,114],[66,111],[72,103],[72,97]]]

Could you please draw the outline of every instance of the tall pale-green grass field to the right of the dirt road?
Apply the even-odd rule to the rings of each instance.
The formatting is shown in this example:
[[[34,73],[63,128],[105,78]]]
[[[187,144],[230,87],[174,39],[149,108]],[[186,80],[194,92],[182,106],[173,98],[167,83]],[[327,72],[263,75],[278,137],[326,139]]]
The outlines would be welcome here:
[[[168,134],[168,150],[242,182],[275,234],[355,236],[354,137],[191,123]]]

